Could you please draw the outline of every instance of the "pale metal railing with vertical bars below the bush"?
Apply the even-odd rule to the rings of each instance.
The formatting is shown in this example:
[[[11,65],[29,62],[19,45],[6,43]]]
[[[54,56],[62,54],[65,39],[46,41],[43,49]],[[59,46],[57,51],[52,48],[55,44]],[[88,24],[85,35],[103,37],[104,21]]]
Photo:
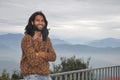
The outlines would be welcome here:
[[[120,66],[50,74],[52,80],[120,80]]]

